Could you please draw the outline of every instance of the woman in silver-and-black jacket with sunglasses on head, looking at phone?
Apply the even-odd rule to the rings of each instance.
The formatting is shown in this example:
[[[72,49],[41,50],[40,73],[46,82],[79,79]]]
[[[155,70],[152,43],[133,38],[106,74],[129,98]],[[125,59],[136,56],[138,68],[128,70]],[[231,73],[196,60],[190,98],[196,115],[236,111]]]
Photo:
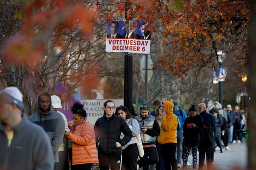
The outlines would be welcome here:
[[[137,164],[143,167],[143,170],[149,170],[150,164],[156,164],[159,161],[155,137],[159,136],[160,127],[157,119],[149,114],[147,104],[140,105],[140,115],[136,116],[135,119],[140,125],[140,137],[145,152],[144,156],[137,161]]]

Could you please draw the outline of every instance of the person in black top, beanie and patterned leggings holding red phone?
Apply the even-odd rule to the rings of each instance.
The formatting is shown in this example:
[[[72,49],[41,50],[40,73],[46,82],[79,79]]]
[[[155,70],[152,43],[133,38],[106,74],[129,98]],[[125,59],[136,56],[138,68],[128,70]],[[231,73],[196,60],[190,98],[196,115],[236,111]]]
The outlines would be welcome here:
[[[200,133],[203,129],[203,120],[202,118],[196,114],[195,105],[192,105],[189,108],[189,117],[185,119],[183,125],[183,170],[186,170],[186,164],[188,161],[188,156],[190,149],[192,149],[192,157],[193,157],[193,170],[195,170],[197,163],[197,151],[198,145],[200,142]]]

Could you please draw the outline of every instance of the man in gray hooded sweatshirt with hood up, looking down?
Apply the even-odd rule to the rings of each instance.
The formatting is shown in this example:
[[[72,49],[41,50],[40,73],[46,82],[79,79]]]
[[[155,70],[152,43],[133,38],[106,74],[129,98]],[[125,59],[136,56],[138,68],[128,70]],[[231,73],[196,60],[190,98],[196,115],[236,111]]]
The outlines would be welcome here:
[[[65,122],[61,114],[52,111],[51,96],[47,92],[38,95],[35,105],[36,113],[28,120],[44,128],[49,136],[54,154],[54,170],[58,170],[58,147],[63,141]]]

